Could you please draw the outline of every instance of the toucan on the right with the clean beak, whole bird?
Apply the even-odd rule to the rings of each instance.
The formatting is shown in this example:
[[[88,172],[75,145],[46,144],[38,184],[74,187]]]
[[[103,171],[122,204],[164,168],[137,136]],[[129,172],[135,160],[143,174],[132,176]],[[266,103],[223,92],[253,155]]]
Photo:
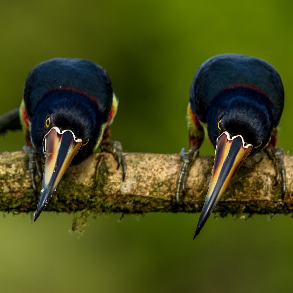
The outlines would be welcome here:
[[[176,202],[185,192],[189,170],[204,136],[215,148],[214,165],[194,238],[200,233],[227,185],[248,156],[264,150],[273,160],[276,182],[286,191],[286,170],[277,149],[277,126],[284,108],[284,87],[268,62],[242,54],[220,54],[207,59],[196,71],[187,107],[189,151],[182,161],[176,184]]]

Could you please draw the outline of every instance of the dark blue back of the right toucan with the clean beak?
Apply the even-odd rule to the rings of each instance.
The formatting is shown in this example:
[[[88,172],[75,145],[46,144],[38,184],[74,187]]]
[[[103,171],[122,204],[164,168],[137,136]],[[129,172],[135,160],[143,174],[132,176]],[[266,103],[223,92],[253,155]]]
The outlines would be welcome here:
[[[237,85],[257,88],[268,96],[275,108],[276,127],[284,108],[284,88],[280,75],[268,62],[240,54],[217,55],[200,66],[190,87],[193,112],[200,121],[207,122],[207,111],[215,97],[224,89]]]

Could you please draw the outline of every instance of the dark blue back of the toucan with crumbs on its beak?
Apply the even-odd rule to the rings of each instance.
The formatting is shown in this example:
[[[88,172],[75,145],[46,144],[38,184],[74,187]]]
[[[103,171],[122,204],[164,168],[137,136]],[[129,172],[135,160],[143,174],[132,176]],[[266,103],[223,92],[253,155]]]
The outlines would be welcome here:
[[[84,93],[96,101],[103,123],[107,122],[113,96],[107,72],[89,60],[70,58],[50,59],[30,71],[23,89],[28,117],[33,117],[46,94],[63,89]]]

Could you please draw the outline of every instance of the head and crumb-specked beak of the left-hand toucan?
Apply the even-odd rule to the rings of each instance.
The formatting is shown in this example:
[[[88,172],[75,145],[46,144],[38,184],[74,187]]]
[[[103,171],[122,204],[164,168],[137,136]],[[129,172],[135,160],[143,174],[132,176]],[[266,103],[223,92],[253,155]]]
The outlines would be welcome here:
[[[30,134],[45,166],[35,220],[71,161],[80,163],[92,154],[101,131],[99,112],[96,103],[73,91],[53,91],[37,105]]]

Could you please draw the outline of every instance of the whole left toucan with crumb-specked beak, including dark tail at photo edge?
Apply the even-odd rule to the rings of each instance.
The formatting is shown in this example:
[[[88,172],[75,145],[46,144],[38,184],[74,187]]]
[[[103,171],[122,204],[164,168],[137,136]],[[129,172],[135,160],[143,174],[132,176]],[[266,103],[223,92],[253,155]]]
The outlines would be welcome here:
[[[34,221],[40,216],[64,172],[101,146],[122,166],[126,161],[120,142],[110,140],[118,98],[103,67],[85,59],[54,58],[28,74],[19,109],[0,117],[0,133],[22,127],[29,158],[32,187],[35,172],[42,178]],[[37,158],[45,160],[43,175]]]

